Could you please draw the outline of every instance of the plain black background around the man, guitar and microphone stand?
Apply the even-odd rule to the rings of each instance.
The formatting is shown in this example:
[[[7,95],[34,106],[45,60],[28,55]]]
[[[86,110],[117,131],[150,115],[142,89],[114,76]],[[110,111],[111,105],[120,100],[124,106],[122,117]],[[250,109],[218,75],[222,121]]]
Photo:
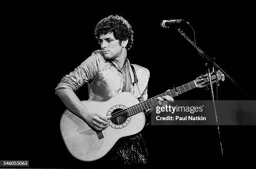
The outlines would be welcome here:
[[[31,5],[31,4],[30,4]],[[100,49],[94,37],[98,21],[110,14],[123,16],[134,30],[133,48],[128,51],[131,63],[150,71],[148,98],[195,80],[206,73],[205,61],[195,48],[174,28],[164,30],[162,20],[184,19],[195,30],[196,43],[235,80],[244,96],[226,78],[218,88],[219,100],[255,100],[253,18],[250,5],[205,5],[197,10],[166,10],[161,6],[128,10],[87,5],[33,5],[6,13],[10,48],[5,72],[11,76],[14,90],[6,101],[11,103],[3,117],[1,159],[30,160],[31,168],[87,168],[111,164],[104,157],[94,162],[74,158],[62,139],[59,123],[65,111],[54,95],[61,78],[73,71],[94,50]],[[16,5],[16,8],[18,5]],[[136,8],[137,7],[137,8]],[[241,12],[243,9],[245,12]],[[115,12],[118,11],[118,12]],[[12,12],[13,11],[13,12]],[[192,29],[181,24],[194,41]],[[13,71],[10,71],[13,70]],[[18,89],[18,90],[16,90]],[[87,100],[87,86],[77,91]],[[210,91],[196,88],[174,100],[210,100]],[[8,120],[7,120],[8,119]],[[167,164],[173,160],[236,159],[255,153],[255,126],[220,126],[224,149],[222,157],[217,126],[147,126],[142,134],[148,149],[149,164]],[[149,165],[149,166],[150,166]]]

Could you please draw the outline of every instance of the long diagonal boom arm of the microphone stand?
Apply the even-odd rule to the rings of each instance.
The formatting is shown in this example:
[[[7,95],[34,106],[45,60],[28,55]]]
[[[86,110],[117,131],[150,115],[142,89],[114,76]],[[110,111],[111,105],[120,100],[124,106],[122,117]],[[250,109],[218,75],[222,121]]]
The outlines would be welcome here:
[[[190,40],[189,37],[187,37],[187,35],[181,29],[177,29],[176,27],[174,28],[178,30],[179,33],[181,33],[184,36],[184,38],[186,38],[195,48],[197,48],[202,58],[204,58],[207,61],[208,65],[210,64],[213,67],[215,67],[216,70],[220,70],[224,74],[225,78],[228,78],[228,80],[230,80],[246,97],[248,97],[248,95],[243,92],[243,90],[238,86],[238,84],[230,76],[228,76],[228,74],[225,73],[225,71],[223,71],[222,68],[220,68],[220,66],[218,66],[215,63],[215,58],[210,58],[210,56],[208,56],[205,52],[203,52],[200,48],[198,48],[195,45],[195,43],[192,40]]]

